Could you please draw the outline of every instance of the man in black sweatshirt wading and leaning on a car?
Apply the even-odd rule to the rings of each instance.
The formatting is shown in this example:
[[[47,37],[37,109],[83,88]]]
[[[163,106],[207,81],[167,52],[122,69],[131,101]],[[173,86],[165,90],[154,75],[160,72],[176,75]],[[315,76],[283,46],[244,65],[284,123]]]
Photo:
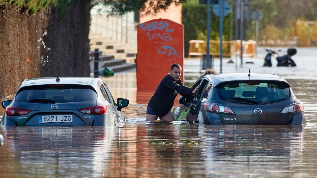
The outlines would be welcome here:
[[[158,117],[160,120],[173,121],[171,108],[177,94],[181,94],[184,98],[192,98],[197,92],[199,85],[195,89],[182,85],[181,72],[182,67],[179,64],[173,64],[170,73],[161,80],[147,105],[147,121],[157,120]]]

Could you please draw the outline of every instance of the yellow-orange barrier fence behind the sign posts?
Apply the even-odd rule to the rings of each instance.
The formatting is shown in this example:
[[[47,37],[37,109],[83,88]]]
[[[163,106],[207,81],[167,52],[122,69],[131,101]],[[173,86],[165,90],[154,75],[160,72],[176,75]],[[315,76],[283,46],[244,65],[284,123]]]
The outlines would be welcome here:
[[[202,40],[191,40],[189,41],[188,57],[199,56],[206,54],[206,42]],[[256,41],[249,40],[243,41],[243,56],[254,57]],[[237,41],[223,41],[223,56],[231,56],[237,54],[240,55],[241,40]],[[220,41],[210,41],[210,54],[219,56],[220,55]],[[237,48],[237,51],[236,51]]]

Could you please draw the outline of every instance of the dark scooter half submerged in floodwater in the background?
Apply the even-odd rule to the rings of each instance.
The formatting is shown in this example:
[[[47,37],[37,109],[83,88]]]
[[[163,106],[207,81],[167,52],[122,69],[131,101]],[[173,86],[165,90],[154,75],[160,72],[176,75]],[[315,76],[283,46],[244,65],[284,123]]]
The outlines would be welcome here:
[[[271,56],[272,54],[277,54],[275,51],[271,50],[271,49],[265,49],[268,54],[265,56],[264,58],[264,64],[263,66],[268,66],[271,67],[272,63],[271,63]],[[281,50],[279,50],[281,51]],[[277,67],[294,67],[296,66],[294,60],[291,59],[291,56],[295,55],[297,52],[297,50],[295,48],[289,48],[287,50],[287,54],[284,56],[279,56],[276,58],[277,60]]]

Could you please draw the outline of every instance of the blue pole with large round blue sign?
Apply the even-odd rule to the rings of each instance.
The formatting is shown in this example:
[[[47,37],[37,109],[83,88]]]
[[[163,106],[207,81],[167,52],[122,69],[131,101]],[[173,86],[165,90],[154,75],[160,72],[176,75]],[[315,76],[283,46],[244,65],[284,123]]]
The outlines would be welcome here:
[[[222,36],[223,36],[223,17],[230,13],[230,4],[226,0],[219,0],[219,4],[213,5],[214,14],[220,17],[220,73],[222,73]]]

